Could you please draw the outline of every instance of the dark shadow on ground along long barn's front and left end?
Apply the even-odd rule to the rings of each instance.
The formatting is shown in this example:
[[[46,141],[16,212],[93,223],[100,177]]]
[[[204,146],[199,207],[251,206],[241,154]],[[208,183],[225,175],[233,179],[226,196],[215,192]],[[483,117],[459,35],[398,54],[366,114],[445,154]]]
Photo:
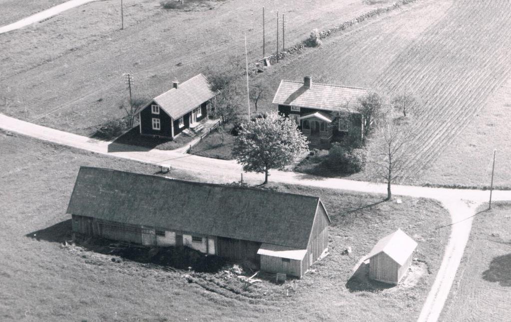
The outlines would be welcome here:
[[[226,264],[233,263],[219,256],[206,256],[198,250],[184,246],[145,246],[101,237],[73,234],[71,219],[39,229],[25,236],[37,241],[68,243],[72,244],[73,247],[81,247],[87,251],[116,256],[123,260],[143,264],[158,265],[170,270],[189,270],[191,268],[196,272],[216,273]],[[84,254],[84,256],[86,255]],[[117,261],[117,259],[112,258],[113,261]]]

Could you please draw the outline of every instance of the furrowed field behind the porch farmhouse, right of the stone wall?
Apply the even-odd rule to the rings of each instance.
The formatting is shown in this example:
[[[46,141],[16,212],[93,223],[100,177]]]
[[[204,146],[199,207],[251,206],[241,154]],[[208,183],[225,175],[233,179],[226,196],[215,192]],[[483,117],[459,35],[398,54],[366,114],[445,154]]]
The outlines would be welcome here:
[[[490,149],[506,145],[506,132],[486,135],[492,131],[486,131],[476,115],[498,95],[497,90],[511,75],[511,3],[435,1],[402,8],[323,40],[322,48],[278,66],[271,84],[276,87],[281,79],[301,80],[304,75],[313,75],[323,83],[369,87],[389,96],[406,91],[419,98],[425,114],[414,125],[416,138],[407,165],[408,177],[423,174],[466,127],[477,128],[477,140],[480,144],[487,140]],[[495,106],[506,104],[498,97],[494,101],[497,103],[487,107],[495,115],[490,114],[490,118],[499,119],[503,124],[499,129],[506,130],[509,107]],[[468,131],[463,142],[473,139]],[[464,148],[467,154],[456,159],[455,150],[451,150],[447,162],[479,172],[470,167],[471,161],[486,164],[487,150],[471,149],[469,155],[469,149]],[[443,160],[435,169],[451,166]],[[461,171],[467,167],[450,181],[472,181],[471,174],[463,176]],[[434,181],[441,184],[443,178]]]

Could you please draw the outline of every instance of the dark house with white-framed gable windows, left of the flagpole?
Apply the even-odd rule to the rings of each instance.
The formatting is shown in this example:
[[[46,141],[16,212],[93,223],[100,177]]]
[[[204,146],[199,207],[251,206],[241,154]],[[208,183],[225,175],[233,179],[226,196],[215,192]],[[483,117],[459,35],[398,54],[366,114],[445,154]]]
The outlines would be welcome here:
[[[185,129],[200,127],[215,97],[210,82],[199,74],[155,97],[140,111],[140,134],[174,139]]]

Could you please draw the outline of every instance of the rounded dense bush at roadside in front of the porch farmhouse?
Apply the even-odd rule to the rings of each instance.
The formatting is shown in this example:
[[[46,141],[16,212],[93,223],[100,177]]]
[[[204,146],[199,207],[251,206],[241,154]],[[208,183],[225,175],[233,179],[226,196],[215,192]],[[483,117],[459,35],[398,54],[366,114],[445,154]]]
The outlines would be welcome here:
[[[359,172],[365,164],[365,152],[362,149],[350,149],[339,143],[334,143],[328,152],[325,163],[335,172]]]

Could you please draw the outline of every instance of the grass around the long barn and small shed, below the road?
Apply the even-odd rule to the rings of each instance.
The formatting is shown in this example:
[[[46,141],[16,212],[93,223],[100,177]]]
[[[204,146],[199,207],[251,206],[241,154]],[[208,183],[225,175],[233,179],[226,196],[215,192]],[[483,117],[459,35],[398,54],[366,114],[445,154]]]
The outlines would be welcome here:
[[[330,255],[302,280],[282,286],[263,282],[260,288],[235,293],[231,286],[236,281],[219,275],[193,273],[189,283],[183,275],[187,272],[118,257],[112,262],[112,256],[62,247],[62,236],[52,235],[69,229],[64,212],[79,166],[141,173],[155,173],[157,167],[3,132],[0,144],[4,156],[0,195],[9,200],[0,204],[4,232],[0,319],[5,321],[337,320],[340,316],[413,320],[433,283],[449,234],[448,229],[435,229],[448,223],[449,216],[431,200],[404,198],[397,204],[381,202],[382,196],[274,185],[280,191],[321,197],[333,220]],[[419,242],[414,257],[427,263],[430,274],[416,280],[414,287],[348,283],[358,260],[397,227]],[[341,255],[346,246],[353,253]]]

